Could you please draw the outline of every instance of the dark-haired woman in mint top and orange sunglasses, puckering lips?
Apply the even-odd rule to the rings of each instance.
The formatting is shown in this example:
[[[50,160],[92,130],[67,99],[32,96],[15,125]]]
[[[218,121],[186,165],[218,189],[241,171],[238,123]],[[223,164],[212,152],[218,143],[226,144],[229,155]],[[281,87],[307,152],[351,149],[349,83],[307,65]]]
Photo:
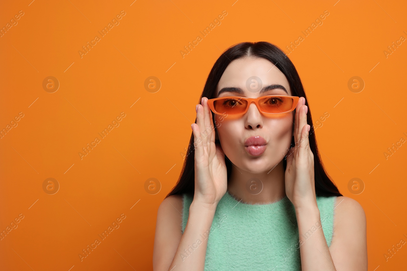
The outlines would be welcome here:
[[[300,77],[278,47],[228,48],[196,111],[158,209],[155,271],[368,270],[363,208],[324,170]]]

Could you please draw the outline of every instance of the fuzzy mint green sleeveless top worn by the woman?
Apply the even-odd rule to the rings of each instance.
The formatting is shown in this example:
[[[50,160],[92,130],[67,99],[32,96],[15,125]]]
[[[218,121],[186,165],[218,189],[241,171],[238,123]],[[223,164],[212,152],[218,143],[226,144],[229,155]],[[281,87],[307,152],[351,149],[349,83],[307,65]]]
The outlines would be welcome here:
[[[335,199],[335,196],[317,197],[328,247],[333,234]],[[183,200],[182,233],[193,197],[183,194]],[[310,228],[306,236],[302,236],[302,242],[321,230],[321,224]],[[209,236],[200,235],[181,257],[188,258],[208,238],[205,271],[301,270],[298,235],[295,209],[287,196],[270,204],[245,204],[227,191],[217,205]]]

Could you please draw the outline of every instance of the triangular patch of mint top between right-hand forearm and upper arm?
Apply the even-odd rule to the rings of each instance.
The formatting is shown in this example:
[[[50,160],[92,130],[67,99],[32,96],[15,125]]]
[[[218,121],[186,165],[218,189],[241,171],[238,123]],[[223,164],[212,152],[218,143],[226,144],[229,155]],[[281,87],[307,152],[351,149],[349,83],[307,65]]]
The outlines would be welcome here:
[[[333,237],[333,225],[335,218],[335,202],[337,197],[319,197],[317,205],[319,208],[319,214],[321,217],[322,229],[324,231],[324,236],[326,244],[330,247]]]

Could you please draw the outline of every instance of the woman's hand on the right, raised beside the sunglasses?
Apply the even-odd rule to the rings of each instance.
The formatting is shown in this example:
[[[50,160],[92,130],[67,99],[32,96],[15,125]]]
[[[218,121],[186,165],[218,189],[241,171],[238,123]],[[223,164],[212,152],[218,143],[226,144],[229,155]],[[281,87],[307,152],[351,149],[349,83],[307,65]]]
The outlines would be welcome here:
[[[285,171],[285,192],[295,208],[315,205],[314,154],[309,147],[309,124],[306,114],[308,106],[300,97],[295,108],[294,141],[295,146],[287,153]]]

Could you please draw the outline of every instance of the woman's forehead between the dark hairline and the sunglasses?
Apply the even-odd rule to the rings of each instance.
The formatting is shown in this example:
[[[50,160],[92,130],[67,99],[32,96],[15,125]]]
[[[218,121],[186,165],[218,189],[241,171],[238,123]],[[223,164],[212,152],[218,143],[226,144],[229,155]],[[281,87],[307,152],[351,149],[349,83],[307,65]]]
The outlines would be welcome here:
[[[258,85],[251,85],[256,83]],[[215,97],[218,97],[219,91],[223,88],[240,88],[244,91],[245,97],[255,98],[260,96],[260,88],[264,89],[264,87],[269,85],[282,85],[287,90],[288,94],[283,89],[272,88],[267,93],[265,92],[261,95],[280,94],[292,96],[287,78],[273,63],[267,59],[235,59],[228,65],[225,72],[223,72],[217,85]],[[251,86],[252,89],[250,89]],[[236,94],[237,93],[223,92],[220,95],[234,96]]]

